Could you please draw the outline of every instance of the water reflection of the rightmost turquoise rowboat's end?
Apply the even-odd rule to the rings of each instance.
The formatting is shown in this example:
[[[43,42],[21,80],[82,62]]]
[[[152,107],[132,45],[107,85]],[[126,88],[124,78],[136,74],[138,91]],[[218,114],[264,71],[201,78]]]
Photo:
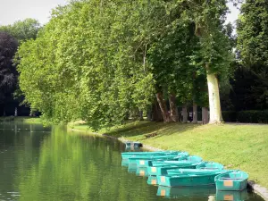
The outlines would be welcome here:
[[[222,191],[217,190],[216,200],[219,201],[244,201],[248,199],[247,189],[242,191]]]

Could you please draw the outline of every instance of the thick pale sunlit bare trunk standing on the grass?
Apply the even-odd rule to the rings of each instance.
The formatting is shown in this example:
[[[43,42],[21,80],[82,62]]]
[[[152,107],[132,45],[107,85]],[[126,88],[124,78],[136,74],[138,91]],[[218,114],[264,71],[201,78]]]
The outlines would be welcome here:
[[[223,120],[218,79],[215,74],[207,74],[206,79],[209,96],[209,123],[221,123]]]

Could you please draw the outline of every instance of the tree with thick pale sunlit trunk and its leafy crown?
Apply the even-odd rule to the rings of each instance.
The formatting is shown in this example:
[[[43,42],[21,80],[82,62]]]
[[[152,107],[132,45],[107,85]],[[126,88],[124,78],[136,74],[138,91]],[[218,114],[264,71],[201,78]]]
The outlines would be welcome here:
[[[232,54],[230,40],[224,34],[223,22],[228,11],[227,1],[181,0],[177,4],[186,9],[185,16],[196,24],[196,35],[200,38],[202,60],[197,63],[206,73],[210,123],[222,122],[219,79],[228,75]]]

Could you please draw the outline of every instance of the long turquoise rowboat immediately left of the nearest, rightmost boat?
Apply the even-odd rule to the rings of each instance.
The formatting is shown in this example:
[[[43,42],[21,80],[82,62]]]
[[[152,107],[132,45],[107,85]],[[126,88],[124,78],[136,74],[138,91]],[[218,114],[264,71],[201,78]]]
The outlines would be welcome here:
[[[204,186],[214,185],[215,176],[228,172],[218,170],[217,172],[180,172],[177,175],[157,176],[159,185],[166,187],[189,187],[189,186]]]

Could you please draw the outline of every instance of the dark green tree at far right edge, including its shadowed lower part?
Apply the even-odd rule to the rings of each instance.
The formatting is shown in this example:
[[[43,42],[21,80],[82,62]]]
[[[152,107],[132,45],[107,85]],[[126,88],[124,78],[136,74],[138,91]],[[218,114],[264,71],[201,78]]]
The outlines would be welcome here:
[[[239,61],[244,75],[252,80],[247,88],[248,99],[255,108],[265,109],[268,103],[268,4],[264,0],[247,0],[241,6],[238,21]]]

